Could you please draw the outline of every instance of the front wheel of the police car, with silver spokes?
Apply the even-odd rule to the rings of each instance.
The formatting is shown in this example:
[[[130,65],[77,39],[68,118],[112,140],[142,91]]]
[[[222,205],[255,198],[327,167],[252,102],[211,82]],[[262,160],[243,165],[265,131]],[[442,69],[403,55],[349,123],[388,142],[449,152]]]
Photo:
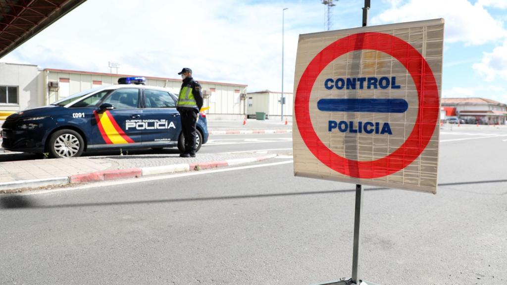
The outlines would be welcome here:
[[[84,147],[83,138],[77,131],[63,129],[51,135],[48,150],[54,158],[68,158],[81,156]]]

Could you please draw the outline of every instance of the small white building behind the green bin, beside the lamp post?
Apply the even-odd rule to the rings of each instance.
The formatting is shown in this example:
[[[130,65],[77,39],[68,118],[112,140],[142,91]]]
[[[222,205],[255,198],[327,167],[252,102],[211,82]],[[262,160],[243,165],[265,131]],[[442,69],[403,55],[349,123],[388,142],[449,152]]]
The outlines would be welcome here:
[[[282,105],[280,103],[281,92],[269,90],[247,93],[247,115],[248,118],[255,118],[257,112],[266,113],[266,119],[280,120]],[[294,95],[283,92],[285,104],[283,104],[283,116],[292,120]]]

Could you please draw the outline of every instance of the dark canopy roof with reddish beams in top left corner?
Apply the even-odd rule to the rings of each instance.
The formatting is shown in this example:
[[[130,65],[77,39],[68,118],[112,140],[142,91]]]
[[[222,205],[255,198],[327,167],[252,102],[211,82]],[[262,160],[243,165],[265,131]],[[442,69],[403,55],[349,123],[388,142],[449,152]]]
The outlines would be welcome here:
[[[86,0],[0,0],[0,58]]]

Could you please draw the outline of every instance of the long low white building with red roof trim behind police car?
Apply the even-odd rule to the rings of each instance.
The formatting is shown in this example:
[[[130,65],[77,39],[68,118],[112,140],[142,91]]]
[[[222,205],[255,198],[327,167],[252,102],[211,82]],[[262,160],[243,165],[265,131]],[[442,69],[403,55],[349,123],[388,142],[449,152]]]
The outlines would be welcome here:
[[[120,77],[132,76],[134,75],[53,68],[39,69],[37,65],[0,62],[0,113],[17,112],[51,104],[95,86],[118,84]],[[166,87],[176,94],[182,84],[181,79],[145,77],[147,85]],[[202,86],[204,106],[209,106],[209,110],[206,111],[209,119],[243,119],[246,115],[247,85],[196,79]]]

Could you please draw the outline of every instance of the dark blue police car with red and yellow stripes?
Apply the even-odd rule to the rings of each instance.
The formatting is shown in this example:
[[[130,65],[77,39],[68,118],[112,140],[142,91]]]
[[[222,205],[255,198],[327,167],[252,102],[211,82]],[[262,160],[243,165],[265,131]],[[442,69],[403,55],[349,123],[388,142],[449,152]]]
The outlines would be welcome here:
[[[56,158],[107,149],[177,147],[184,152],[177,96],[144,82],[144,78],[120,78],[118,85],[82,91],[13,114],[2,125],[2,147]],[[207,140],[206,115],[201,112],[197,151]]]

